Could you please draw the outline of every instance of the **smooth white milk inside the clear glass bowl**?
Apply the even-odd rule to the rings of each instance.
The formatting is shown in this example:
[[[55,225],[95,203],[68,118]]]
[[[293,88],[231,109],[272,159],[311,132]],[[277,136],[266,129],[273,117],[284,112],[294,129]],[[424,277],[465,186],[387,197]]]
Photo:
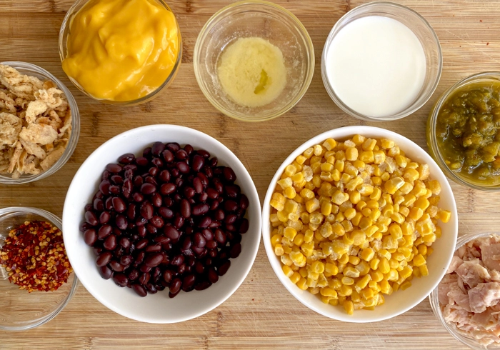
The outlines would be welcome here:
[[[354,111],[389,116],[418,96],[426,76],[424,48],[400,21],[363,17],[336,34],[326,54],[326,75]]]

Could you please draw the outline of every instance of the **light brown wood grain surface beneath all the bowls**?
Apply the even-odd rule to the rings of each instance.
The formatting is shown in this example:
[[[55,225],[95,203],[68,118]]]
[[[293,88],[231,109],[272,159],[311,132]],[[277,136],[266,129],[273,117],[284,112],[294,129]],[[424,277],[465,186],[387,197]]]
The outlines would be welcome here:
[[[71,0],[1,0],[0,61],[27,61],[51,71],[74,93],[81,134],[68,163],[49,178],[0,185],[0,206],[37,206],[61,216],[66,190],[94,149],[123,131],[148,124],[180,124],[204,131],[229,147],[254,179],[259,196],[274,172],[312,136],[347,125],[396,131],[426,149],[426,119],[439,95],[470,74],[500,70],[500,1],[400,0],[423,15],[439,36],[443,74],[430,101],[399,121],[366,123],[347,116],[326,94],[320,64],[335,22],[358,0],[276,0],[296,14],[316,50],[314,79],[304,98],[284,116],[245,123],[216,111],[194,78],[192,56],[199,30],[228,0],[169,0],[184,36],[184,57],[171,87],[146,104],[100,104],[72,86],[61,69],[59,26]],[[459,209],[459,234],[500,231],[500,194],[451,184]],[[1,313],[1,310],[0,310]],[[181,324],[143,324],[106,309],[83,286],[59,316],[30,331],[0,331],[0,349],[466,349],[434,318],[429,301],[388,321],[349,324],[327,319],[296,301],[269,265],[261,244],[241,287],[224,304]]]

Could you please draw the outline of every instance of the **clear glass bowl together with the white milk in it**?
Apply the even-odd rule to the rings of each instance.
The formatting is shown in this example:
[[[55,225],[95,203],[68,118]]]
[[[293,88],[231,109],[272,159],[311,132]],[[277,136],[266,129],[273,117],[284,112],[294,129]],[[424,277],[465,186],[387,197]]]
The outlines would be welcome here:
[[[414,113],[434,93],[442,66],[439,39],[429,23],[405,6],[384,1],[342,16],[321,56],[331,99],[366,121]]]

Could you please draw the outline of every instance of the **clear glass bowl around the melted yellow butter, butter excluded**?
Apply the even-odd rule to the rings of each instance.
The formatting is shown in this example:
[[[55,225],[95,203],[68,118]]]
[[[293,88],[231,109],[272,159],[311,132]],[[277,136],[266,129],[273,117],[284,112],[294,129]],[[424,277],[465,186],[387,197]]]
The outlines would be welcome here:
[[[257,36],[277,46],[286,66],[284,91],[270,104],[235,104],[222,89],[217,66],[224,49],[239,38]],[[239,1],[218,11],[201,29],[194,46],[194,74],[206,99],[226,116],[264,121],[281,116],[300,101],[314,74],[314,47],[306,28],[290,11],[267,1]]]

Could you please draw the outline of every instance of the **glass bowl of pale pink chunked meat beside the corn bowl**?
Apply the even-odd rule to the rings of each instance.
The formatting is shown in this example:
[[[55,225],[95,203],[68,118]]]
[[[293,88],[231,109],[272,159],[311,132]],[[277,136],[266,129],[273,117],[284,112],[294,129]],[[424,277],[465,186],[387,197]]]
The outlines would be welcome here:
[[[436,318],[457,340],[472,349],[500,349],[500,233],[459,237],[429,299]]]

